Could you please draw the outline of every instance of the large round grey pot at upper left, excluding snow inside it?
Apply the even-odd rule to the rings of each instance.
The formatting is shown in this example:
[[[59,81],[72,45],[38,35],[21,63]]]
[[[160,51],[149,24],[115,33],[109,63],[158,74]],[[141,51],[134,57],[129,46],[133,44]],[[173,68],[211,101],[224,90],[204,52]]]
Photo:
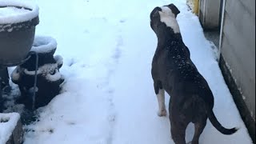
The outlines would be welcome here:
[[[19,14],[15,17],[10,15],[10,18],[8,15],[0,16],[0,67],[16,66],[26,58],[34,41],[35,26],[39,23],[38,14],[30,14],[30,12],[34,13],[33,8],[37,6],[32,7],[22,2],[15,6],[11,1],[10,4],[8,1],[5,4],[0,3],[0,8],[11,6],[29,12],[27,15]],[[25,16],[30,16],[28,17],[30,19]],[[22,21],[22,17],[25,21]]]

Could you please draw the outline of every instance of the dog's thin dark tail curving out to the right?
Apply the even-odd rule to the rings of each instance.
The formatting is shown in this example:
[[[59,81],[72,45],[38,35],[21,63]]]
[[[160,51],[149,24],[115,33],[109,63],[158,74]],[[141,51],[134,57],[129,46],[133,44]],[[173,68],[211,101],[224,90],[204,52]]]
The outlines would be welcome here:
[[[213,124],[213,126],[222,134],[230,135],[234,134],[238,129],[237,128],[232,128],[232,129],[226,129],[225,127],[222,126],[215,117],[214,111],[212,109],[207,110],[207,115],[208,118],[210,119],[210,122]]]

